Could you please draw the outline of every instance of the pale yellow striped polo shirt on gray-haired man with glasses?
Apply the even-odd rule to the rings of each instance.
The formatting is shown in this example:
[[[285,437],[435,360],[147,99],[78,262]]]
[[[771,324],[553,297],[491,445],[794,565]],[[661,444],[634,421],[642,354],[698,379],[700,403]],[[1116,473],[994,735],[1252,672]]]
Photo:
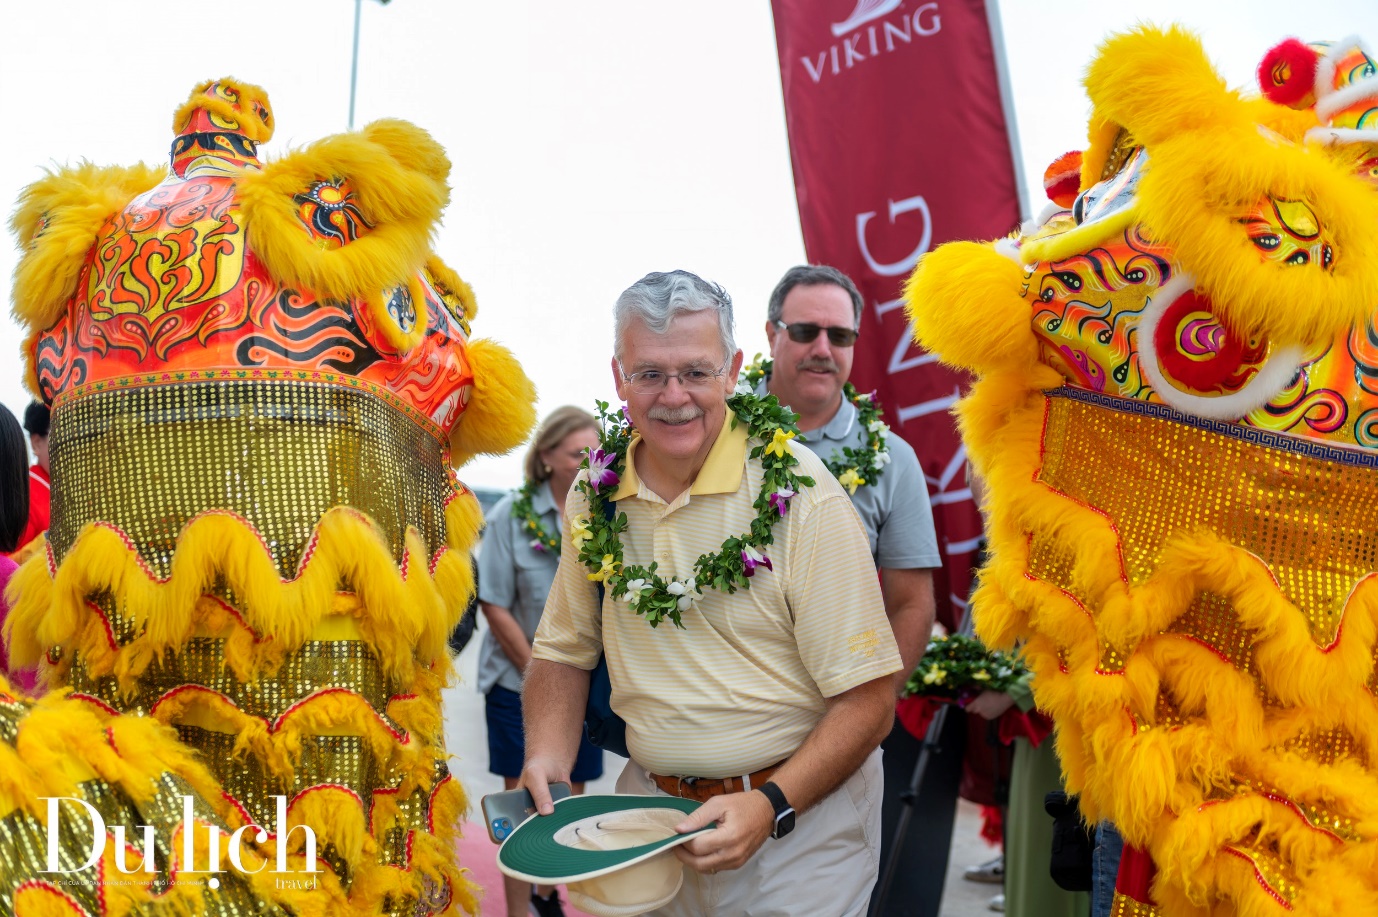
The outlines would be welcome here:
[[[627,514],[623,560],[664,578],[693,575],[695,561],[750,530],[761,491],[759,459],[744,426],[723,423],[693,485],[666,503],[638,478],[633,436],[615,495]],[[755,444],[755,443],[750,443]],[[656,774],[722,778],[790,757],[825,710],[824,698],[901,666],[865,531],[852,501],[806,448],[795,470],[816,484],[790,501],[751,587],[704,589],[683,629],[652,629],[610,594],[598,608],[565,525],[559,570],[532,656],[593,669],[606,649],[612,707],[627,721],[627,747]],[[583,473],[582,473],[583,474]],[[570,491],[565,518],[587,513]]]

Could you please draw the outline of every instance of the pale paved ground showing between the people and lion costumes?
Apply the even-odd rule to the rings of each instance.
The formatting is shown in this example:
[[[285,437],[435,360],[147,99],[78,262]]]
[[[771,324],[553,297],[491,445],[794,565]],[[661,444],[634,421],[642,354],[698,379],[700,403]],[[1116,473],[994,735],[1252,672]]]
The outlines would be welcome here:
[[[445,691],[445,742],[453,760],[451,767],[463,780],[470,793],[473,809],[478,809],[478,798],[486,793],[503,789],[502,779],[488,772],[488,745],[484,725],[484,699],[474,689],[474,676],[478,670],[478,645],[482,640],[484,622],[480,619],[478,633],[459,658],[462,683]],[[602,779],[588,785],[590,792],[612,793],[623,758],[608,756]],[[477,837],[482,829],[473,826],[470,837]],[[496,852],[496,847],[466,844],[470,851]],[[971,863],[983,863],[994,855],[992,848],[980,837],[980,812],[976,805],[962,803],[958,809],[956,830],[952,837],[952,858],[948,866],[947,887],[943,896],[941,917],[987,917],[991,911],[987,902],[999,891],[994,885],[977,885],[962,878],[962,870]],[[475,867],[481,878],[492,876],[492,867]],[[486,866],[486,863],[484,865]],[[493,888],[485,898],[484,917],[500,917],[503,894]]]

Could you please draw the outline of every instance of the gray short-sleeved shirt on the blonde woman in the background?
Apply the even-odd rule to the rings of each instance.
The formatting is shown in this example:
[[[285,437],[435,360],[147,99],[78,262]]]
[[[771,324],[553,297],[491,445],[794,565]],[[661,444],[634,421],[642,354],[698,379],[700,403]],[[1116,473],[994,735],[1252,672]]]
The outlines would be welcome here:
[[[555,581],[559,554],[531,546],[531,532],[524,531],[522,523],[513,514],[515,502],[517,494],[508,494],[488,514],[484,546],[478,552],[478,600],[513,612],[526,640],[531,640],[536,636],[546,596]],[[555,512],[548,481],[532,495],[531,507],[547,532],[559,531],[559,513]],[[488,694],[495,684],[521,691],[521,673],[489,629],[478,652],[478,691]]]

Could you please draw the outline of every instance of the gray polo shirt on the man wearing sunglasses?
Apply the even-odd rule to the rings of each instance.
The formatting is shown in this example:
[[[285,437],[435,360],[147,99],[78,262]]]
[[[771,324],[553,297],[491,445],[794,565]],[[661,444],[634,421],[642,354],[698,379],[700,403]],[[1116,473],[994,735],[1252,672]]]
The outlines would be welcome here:
[[[766,382],[757,386],[757,394],[768,394]],[[831,461],[842,456],[842,448],[865,448],[865,429],[857,421],[857,410],[842,399],[842,405],[823,427],[799,434],[799,443]],[[929,505],[929,485],[914,447],[894,433],[886,434],[890,463],[875,484],[865,484],[852,495],[852,505],[861,516],[871,557],[876,568],[927,570],[943,565],[937,532],[933,530],[933,507]],[[867,470],[861,476],[868,481]]]

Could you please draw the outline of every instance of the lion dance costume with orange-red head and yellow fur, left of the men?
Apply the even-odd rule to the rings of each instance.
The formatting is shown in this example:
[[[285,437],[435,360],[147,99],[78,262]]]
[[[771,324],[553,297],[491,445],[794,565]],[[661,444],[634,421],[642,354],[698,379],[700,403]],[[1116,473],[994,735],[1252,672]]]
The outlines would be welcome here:
[[[453,467],[533,392],[431,251],[449,161],[384,120],[260,163],[234,80],[174,131],[171,168],[59,170],[11,223],[54,502],[6,626],[69,691],[0,692],[0,911],[473,911]]]

